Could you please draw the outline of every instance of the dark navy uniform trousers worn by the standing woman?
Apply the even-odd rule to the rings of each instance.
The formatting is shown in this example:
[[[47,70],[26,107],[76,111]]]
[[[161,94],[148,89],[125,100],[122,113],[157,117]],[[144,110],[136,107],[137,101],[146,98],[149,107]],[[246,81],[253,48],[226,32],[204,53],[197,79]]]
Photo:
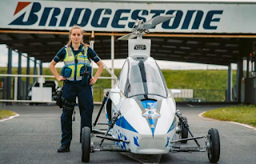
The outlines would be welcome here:
[[[94,110],[93,95],[89,84],[81,82],[66,82],[62,89],[62,145],[70,146],[72,140],[72,114],[74,113],[74,104],[78,97],[78,106],[81,116],[81,131],[84,126],[92,128],[92,114]]]

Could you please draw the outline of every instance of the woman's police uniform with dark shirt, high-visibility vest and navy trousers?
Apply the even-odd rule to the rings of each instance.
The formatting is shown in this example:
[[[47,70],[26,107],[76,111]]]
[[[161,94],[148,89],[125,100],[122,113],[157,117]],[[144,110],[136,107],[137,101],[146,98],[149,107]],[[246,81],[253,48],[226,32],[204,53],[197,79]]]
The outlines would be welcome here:
[[[81,116],[81,130],[84,126],[92,126],[92,113],[94,110],[93,96],[89,80],[91,76],[90,62],[100,61],[98,55],[88,46],[79,46],[74,50],[72,46],[65,46],[54,57],[55,62],[64,61],[62,76],[66,78],[62,88],[62,146],[69,148],[72,140],[72,114],[74,104],[78,97],[78,106]],[[86,69],[90,74],[82,75]],[[88,71],[87,71],[88,72]],[[69,151],[69,150],[68,150]]]

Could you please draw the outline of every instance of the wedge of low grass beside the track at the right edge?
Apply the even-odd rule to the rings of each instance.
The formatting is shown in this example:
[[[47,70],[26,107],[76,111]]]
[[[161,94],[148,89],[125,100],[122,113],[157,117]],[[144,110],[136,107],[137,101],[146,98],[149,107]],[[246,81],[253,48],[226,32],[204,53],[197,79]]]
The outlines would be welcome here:
[[[206,111],[203,116],[222,121],[244,123],[256,127],[256,106],[230,106]]]

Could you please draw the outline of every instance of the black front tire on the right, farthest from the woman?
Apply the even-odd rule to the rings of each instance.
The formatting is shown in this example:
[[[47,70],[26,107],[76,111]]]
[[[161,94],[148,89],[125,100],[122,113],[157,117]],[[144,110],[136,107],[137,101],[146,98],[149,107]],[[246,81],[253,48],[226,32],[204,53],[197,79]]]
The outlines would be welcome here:
[[[208,158],[211,163],[217,163],[219,154],[221,152],[218,130],[211,128],[208,130],[208,134],[210,134],[210,149],[208,150]]]

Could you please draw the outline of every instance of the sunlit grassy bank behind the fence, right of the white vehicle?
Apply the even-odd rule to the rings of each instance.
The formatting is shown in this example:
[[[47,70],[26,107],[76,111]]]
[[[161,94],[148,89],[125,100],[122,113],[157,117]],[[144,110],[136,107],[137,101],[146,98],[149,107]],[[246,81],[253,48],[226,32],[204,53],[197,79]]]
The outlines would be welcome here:
[[[168,88],[193,89],[194,98],[221,102],[226,98],[227,70],[162,70]],[[232,72],[233,86],[236,71]]]

